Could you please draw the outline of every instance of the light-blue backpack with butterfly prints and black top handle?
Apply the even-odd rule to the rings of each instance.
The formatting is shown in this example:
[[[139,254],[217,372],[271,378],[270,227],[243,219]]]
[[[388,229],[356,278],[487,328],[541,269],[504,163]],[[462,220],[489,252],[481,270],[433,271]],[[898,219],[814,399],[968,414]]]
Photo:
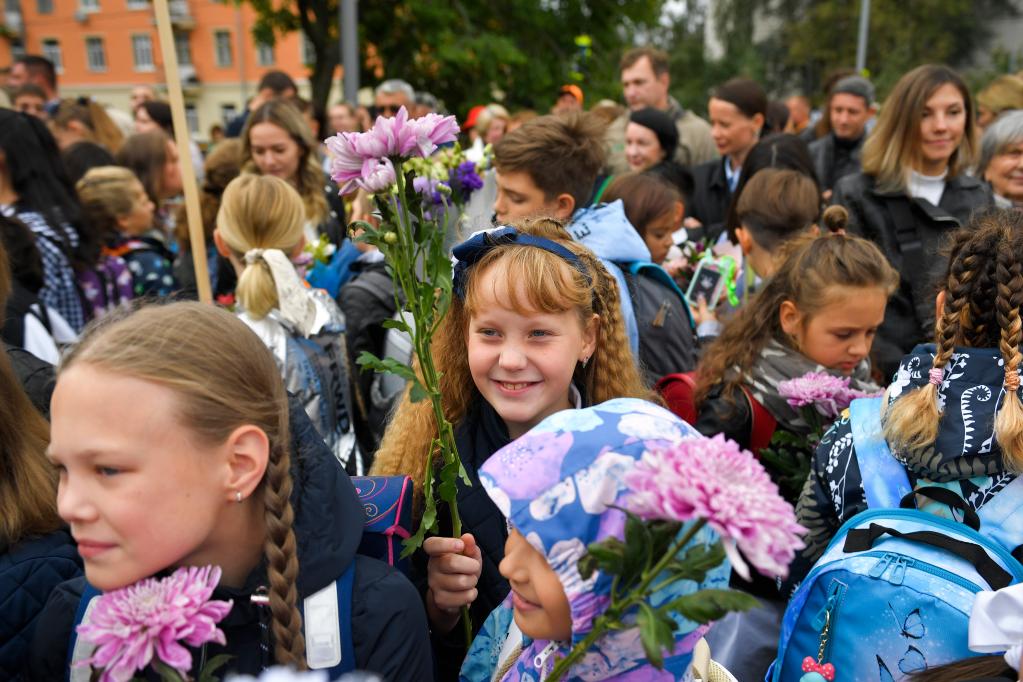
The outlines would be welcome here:
[[[850,407],[868,509],[792,596],[767,680],[888,682],[976,655],[967,646],[975,595],[1023,581],[1023,478],[977,511],[947,488],[914,490],[882,436],[881,400]],[[917,509],[917,496],[962,520]]]

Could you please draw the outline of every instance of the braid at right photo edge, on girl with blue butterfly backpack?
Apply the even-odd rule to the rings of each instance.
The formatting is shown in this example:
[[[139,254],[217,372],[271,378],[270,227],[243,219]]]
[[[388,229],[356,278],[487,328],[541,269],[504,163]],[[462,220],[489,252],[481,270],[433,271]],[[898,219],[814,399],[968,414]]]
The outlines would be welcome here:
[[[998,344],[1006,368],[1006,394],[994,418],[994,435],[1002,446],[1006,465],[1012,470],[1023,467],[1023,403],[1019,399],[1021,329],[1020,306],[1023,305],[1023,263],[1018,239],[1007,235],[998,248],[995,273],[997,295],[994,307],[1002,337]]]

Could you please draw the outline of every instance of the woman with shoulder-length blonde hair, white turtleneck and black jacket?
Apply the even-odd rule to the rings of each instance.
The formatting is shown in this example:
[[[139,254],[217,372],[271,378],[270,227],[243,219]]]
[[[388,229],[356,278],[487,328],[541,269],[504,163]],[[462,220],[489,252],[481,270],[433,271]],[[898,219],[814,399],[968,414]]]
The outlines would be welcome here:
[[[848,230],[881,246],[899,271],[875,345],[885,376],[931,336],[931,273],[938,249],[990,190],[966,173],[977,151],[973,99],[948,66],[925,64],[905,74],[888,96],[863,145],[862,172],[835,185],[833,202],[849,211]]]

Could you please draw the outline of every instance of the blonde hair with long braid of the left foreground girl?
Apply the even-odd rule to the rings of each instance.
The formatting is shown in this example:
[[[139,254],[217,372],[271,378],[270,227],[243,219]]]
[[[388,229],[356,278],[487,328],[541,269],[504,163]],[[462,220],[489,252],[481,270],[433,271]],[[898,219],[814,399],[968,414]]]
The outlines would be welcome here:
[[[221,445],[246,424],[266,434],[270,453],[260,491],[274,660],[303,668],[288,404],[273,356],[243,322],[215,306],[175,303],[109,317],[87,332],[61,373],[82,363],[174,391],[175,416],[203,445]]]

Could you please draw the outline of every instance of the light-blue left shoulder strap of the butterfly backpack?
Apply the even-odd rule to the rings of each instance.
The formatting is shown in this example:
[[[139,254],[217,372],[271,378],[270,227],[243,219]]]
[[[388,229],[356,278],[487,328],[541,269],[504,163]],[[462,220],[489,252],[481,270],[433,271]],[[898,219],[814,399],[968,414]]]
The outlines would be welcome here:
[[[883,398],[857,398],[849,405],[852,446],[869,509],[897,508],[913,487],[905,467],[888,448],[881,427]]]

